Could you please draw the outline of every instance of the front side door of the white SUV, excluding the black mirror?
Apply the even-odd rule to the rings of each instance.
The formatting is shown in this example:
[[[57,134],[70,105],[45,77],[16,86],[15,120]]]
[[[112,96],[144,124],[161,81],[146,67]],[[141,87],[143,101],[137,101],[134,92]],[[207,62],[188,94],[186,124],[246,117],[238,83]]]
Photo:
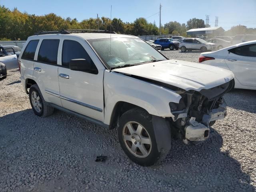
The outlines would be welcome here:
[[[62,106],[90,118],[104,121],[104,66],[88,43],[76,36],[62,40],[59,67],[59,86]],[[72,59],[86,59],[92,64],[91,71],[69,69]]]

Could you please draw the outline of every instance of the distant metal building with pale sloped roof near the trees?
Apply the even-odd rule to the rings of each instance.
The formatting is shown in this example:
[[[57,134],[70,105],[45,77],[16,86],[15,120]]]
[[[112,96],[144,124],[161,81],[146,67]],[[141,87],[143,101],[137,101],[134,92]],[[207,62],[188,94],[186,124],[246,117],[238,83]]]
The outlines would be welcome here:
[[[190,29],[187,32],[187,35],[219,35],[222,34],[225,30],[222,27],[207,27],[207,28],[198,28],[198,29]]]

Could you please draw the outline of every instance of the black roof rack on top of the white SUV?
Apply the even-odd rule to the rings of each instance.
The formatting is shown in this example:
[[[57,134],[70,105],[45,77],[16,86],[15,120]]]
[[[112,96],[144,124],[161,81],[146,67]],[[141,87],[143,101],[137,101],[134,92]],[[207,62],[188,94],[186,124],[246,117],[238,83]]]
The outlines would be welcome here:
[[[114,31],[108,30],[96,30],[96,29],[70,29],[70,30],[60,30],[60,31],[40,31],[34,33],[34,35],[45,35],[45,34],[71,34],[71,33],[113,33],[116,34]]]

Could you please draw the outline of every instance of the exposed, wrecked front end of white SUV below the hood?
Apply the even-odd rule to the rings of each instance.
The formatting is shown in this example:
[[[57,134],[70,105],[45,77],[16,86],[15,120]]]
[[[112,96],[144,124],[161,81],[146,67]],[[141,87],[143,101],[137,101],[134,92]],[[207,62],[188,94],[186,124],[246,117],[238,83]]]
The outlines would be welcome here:
[[[174,117],[170,119],[172,132],[182,136],[183,141],[204,141],[209,137],[210,126],[226,116],[223,95],[234,87],[234,80],[200,92],[180,91],[180,102],[170,102]]]

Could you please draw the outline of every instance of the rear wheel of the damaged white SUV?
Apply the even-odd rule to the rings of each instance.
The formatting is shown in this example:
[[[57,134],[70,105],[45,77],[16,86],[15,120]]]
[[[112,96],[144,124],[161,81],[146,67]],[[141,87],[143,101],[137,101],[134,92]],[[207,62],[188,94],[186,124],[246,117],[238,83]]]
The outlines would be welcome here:
[[[54,112],[54,108],[46,104],[37,84],[34,84],[30,87],[29,100],[32,106],[32,110],[37,116],[46,117]]]

